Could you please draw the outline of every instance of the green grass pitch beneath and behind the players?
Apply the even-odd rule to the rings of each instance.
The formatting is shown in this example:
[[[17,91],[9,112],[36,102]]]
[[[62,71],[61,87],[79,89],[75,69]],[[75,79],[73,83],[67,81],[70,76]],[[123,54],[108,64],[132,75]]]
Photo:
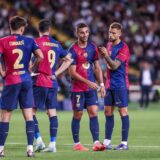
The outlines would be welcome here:
[[[140,110],[137,103],[129,105],[130,135],[128,151],[92,151],[92,139],[89,131],[87,113],[84,112],[80,139],[81,143],[90,148],[89,152],[72,151],[71,136],[72,112],[58,112],[59,130],[57,137],[57,153],[36,153],[35,160],[160,160],[160,104],[151,104],[148,109]],[[38,113],[41,135],[45,144],[49,143],[49,121],[45,112]],[[100,140],[104,138],[105,117],[99,112]],[[121,119],[115,110],[115,127],[112,145],[121,140]],[[25,124],[20,110],[14,112],[9,136],[5,146],[4,160],[27,160]]]

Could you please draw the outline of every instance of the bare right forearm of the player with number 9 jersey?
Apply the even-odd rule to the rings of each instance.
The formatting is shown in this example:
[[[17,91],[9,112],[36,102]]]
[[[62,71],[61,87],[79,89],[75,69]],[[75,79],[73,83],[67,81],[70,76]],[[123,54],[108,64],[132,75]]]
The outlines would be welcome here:
[[[63,73],[73,62],[73,59],[70,55],[67,55],[65,58],[63,58],[62,65],[55,71],[55,75],[58,76],[61,73]]]

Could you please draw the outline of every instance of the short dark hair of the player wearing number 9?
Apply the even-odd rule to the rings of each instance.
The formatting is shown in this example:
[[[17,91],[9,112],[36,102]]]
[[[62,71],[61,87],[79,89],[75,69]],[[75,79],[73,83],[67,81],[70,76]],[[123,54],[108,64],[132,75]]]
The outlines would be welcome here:
[[[39,22],[38,30],[44,33],[48,31],[50,27],[51,27],[51,21],[49,19],[42,19]]]

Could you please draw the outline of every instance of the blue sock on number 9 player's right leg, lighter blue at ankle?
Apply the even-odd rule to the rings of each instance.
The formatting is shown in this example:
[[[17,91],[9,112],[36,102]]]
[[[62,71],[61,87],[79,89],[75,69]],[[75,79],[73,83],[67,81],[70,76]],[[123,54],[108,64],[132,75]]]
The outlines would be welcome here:
[[[53,116],[50,117],[49,120],[50,120],[50,142],[55,142],[57,137],[58,118],[57,116]]]

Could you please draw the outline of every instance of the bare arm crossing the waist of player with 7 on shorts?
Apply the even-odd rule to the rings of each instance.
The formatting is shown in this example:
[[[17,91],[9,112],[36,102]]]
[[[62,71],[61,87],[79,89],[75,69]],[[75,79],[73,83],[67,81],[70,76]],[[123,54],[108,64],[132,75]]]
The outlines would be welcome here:
[[[98,89],[98,85],[96,83],[91,82],[90,80],[82,77],[80,74],[76,72],[76,65],[70,66],[69,73],[73,79],[82,81],[83,83],[87,84],[92,89]]]

